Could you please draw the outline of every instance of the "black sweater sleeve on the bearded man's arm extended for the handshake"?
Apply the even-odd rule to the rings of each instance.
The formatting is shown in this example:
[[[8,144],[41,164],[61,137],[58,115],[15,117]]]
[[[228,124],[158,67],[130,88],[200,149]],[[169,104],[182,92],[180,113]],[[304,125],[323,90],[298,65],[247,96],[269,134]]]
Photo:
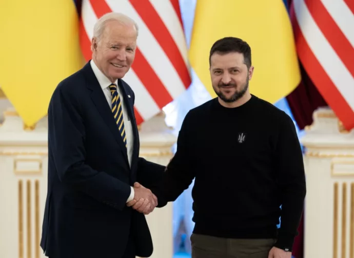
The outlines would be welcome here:
[[[165,206],[167,202],[175,201],[189,187],[195,177],[188,148],[189,144],[191,144],[191,123],[190,113],[188,113],[179,132],[176,153],[167,165],[166,172],[159,186],[151,189],[158,197],[158,207]]]

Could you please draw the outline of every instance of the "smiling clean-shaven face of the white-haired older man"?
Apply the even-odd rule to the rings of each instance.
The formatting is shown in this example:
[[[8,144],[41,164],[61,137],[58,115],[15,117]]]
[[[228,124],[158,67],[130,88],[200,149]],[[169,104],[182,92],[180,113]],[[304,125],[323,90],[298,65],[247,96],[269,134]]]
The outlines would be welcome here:
[[[100,38],[92,39],[92,59],[112,83],[129,71],[135,57],[136,37],[133,24],[108,21]]]

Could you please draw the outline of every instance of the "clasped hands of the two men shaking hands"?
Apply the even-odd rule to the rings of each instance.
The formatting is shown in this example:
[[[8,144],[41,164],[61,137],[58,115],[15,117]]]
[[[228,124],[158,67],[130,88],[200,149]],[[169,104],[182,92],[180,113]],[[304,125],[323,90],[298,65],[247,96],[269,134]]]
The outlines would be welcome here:
[[[158,198],[141,184],[134,183],[134,199],[127,203],[128,207],[132,207],[145,215],[151,213],[158,205]]]

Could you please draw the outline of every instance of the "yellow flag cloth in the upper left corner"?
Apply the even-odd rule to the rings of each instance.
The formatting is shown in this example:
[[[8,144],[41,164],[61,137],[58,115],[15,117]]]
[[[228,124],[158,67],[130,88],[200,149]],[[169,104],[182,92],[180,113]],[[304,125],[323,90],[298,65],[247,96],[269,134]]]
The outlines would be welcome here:
[[[27,126],[83,65],[73,0],[0,1],[0,86]]]

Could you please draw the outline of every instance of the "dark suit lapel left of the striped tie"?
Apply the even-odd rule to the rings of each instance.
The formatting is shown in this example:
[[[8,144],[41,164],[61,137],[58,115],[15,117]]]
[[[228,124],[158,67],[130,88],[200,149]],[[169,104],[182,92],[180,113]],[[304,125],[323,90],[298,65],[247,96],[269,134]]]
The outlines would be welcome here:
[[[89,62],[85,65],[83,71],[87,78],[87,87],[92,91],[91,99],[94,105],[96,106],[97,110],[99,110],[99,114],[102,116],[103,121],[105,121],[106,125],[108,126],[111,133],[113,134],[115,141],[120,145],[125,160],[129,165],[127,148],[125,147],[123,138],[119,133],[118,127],[114,121],[112,110],[109,108],[105,94],[103,93],[103,90],[99,82],[97,81],[97,78],[94,75]]]

